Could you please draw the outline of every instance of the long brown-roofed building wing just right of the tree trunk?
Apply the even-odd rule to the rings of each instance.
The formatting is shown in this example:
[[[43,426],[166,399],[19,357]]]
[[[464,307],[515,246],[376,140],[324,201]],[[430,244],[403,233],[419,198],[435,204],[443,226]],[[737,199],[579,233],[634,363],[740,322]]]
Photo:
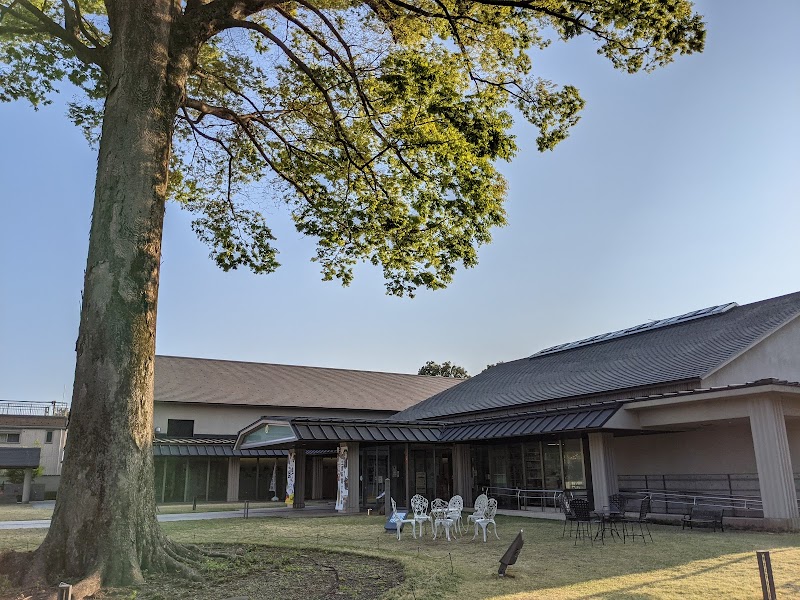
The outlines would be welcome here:
[[[157,356],[155,485],[159,502],[286,497],[286,449],[236,449],[262,417],[385,419],[461,380]],[[335,499],[336,443],[304,457],[309,499]],[[274,488],[274,489],[271,489]]]

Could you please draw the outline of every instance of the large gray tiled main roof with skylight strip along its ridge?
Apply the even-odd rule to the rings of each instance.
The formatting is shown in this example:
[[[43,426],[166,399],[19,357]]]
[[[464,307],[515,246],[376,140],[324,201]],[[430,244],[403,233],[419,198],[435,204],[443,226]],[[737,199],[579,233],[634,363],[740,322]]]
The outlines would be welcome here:
[[[800,314],[800,292],[492,367],[392,419],[434,419],[697,381]],[[641,391],[637,394],[641,395]]]

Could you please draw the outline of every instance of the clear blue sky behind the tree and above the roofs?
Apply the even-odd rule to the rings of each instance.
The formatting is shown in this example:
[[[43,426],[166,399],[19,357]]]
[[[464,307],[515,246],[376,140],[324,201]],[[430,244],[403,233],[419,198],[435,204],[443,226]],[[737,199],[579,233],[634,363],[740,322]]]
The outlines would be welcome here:
[[[167,210],[161,354],[416,372],[487,363],[648,319],[800,290],[800,3],[698,2],[707,50],[625,75],[589,39],[534,56],[588,104],[572,136],[502,165],[509,225],[452,286],[320,280],[275,205],[282,267],[223,273]],[[0,399],[71,395],[95,153],[64,118],[0,105]],[[64,390],[66,389],[66,393]]]

